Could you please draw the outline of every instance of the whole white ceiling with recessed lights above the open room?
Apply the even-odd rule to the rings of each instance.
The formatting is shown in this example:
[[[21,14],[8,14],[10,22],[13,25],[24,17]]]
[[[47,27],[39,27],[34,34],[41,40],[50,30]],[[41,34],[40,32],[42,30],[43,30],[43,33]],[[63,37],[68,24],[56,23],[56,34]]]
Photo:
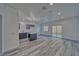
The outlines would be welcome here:
[[[79,14],[79,4],[56,3],[51,6],[49,3],[17,3],[7,5],[18,9],[21,20],[24,19],[26,22],[34,19],[34,22],[42,23]],[[43,6],[47,9],[43,10]]]

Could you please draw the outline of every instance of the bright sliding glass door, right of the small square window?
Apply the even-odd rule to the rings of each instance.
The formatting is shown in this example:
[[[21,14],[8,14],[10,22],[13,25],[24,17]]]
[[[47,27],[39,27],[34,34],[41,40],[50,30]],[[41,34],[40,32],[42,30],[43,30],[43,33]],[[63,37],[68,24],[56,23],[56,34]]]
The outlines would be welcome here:
[[[56,25],[52,26],[52,35],[53,37],[62,37],[62,26],[61,25]]]

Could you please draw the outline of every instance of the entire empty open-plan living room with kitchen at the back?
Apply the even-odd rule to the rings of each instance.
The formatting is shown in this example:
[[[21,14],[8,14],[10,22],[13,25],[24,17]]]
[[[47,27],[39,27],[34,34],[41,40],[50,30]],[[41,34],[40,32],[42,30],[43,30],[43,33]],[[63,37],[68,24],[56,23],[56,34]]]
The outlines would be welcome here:
[[[79,56],[79,3],[0,3],[0,56]]]

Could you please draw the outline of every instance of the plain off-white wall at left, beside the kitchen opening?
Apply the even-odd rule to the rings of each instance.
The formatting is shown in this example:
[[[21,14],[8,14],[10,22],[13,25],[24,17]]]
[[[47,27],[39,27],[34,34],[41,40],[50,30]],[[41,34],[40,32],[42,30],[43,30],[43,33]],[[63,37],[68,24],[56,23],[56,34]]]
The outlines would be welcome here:
[[[2,53],[19,46],[17,10],[0,4],[2,14]]]

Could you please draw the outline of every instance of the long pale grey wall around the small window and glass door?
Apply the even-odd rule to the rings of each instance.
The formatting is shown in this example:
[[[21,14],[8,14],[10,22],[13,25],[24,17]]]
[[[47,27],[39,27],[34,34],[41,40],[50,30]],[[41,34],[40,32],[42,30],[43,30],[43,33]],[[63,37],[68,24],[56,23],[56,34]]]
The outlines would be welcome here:
[[[77,20],[77,17],[67,18],[67,19],[60,19],[57,21],[51,21],[47,22],[41,25],[41,33],[42,34],[52,34],[52,26],[53,25],[62,25],[63,26],[63,37],[71,40],[78,40],[79,41],[79,18]],[[78,22],[78,23],[77,23]],[[43,26],[47,25],[49,26],[49,31],[44,32]]]

